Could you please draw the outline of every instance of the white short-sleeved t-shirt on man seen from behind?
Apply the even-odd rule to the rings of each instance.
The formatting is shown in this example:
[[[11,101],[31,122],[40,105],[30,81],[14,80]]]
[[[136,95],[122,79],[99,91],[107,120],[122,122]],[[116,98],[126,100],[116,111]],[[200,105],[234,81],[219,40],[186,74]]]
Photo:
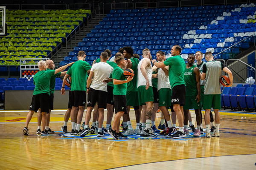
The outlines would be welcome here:
[[[110,74],[113,72],[113,67],[106,62],[99,62],[93,64],[90,71],[94,73],[90,88],[108,92],[107,84],[104,83],[103,80],[106,79],[106,77],[110,77]]]

